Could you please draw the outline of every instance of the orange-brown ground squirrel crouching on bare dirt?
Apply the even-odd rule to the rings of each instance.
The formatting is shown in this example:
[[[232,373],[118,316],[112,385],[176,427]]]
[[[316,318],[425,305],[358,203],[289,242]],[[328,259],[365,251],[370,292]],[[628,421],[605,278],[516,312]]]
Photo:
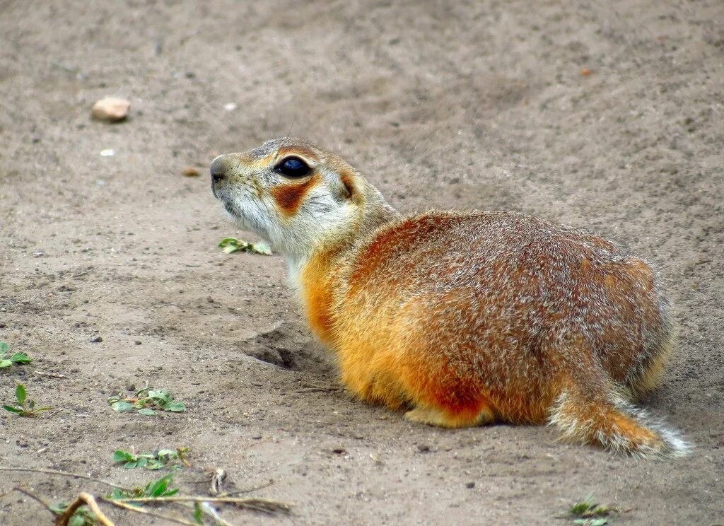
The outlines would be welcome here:
[[[550,423],[639,457],[686,451],[632,402],[674,345],[651,267],[522,213],[402,216],[342,158],[270,140],[211,164],[214,196],[286,258],[342,382],[415,422]]]

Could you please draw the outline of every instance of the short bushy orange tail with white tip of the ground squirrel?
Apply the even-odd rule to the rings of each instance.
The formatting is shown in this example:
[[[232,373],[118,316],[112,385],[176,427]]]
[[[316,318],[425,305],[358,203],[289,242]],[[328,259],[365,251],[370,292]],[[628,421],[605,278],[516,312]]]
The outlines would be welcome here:
[[[577,386],[565,388],[551,408],[549,422],[564,439],[632,457],[681,457],[690,449],[677,431],[615,392],[592,396]]]

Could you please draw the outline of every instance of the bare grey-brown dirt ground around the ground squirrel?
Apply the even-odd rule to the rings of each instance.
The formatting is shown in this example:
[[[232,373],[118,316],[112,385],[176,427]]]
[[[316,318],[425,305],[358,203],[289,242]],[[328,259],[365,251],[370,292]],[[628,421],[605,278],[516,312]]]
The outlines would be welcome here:
[[[158,473],[113,465],[114,449],[188,446],[184,493],[224,467],[295,504],[227,511],[237,525],[564,525],[586,493],[629,510],[613,524],[724,522],[723,24],[720,0],[0,2],[0,340],[35,359],[0,370],[0,399],[18,379],[63,409],[0,415],[1,465],[135,485]],[[91,120],[103,96],[130,118]],[[288,133],[402,211],[534,213],[657,263],[681,346],[647,407],[694,454],[439,430],[334,390],[282,260],[216,247],[256,239],[224,221],[211,159]],[[147,381],[188,410],[106,404]],[[106,491],[0,472],[2,525],[51,523],[17,484]]]

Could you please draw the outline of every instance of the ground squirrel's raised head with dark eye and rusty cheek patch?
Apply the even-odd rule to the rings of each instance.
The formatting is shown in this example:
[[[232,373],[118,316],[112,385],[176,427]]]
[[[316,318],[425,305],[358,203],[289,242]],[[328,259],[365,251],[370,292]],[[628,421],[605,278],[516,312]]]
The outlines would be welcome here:
[[[292,137],[216,157],[211,190],[240,227],[295,259],[396,214],[342,158]]]

